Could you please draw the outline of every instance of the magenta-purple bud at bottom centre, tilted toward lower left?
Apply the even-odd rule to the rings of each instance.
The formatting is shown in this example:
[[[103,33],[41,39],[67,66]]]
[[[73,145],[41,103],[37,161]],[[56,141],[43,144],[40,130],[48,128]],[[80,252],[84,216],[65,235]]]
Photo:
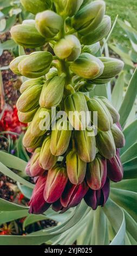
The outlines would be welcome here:
[[[85,181],[81,184],[74,185],[69,181],[61,196],[61,204],[64,208],[71,208],[77,206],[84,198],[88,191],[88,186]]]

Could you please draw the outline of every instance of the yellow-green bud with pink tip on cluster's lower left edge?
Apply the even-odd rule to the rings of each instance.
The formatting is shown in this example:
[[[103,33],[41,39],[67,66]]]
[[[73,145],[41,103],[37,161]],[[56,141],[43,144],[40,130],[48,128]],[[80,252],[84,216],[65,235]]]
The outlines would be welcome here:
[[[42,176],[43,173],[45,172],[45,170],[42,169],[38,164],[40,152],[41,152],[41,148],[35,149],[34,154],[29,160],[30,161],[29,172],[31,177]]]

